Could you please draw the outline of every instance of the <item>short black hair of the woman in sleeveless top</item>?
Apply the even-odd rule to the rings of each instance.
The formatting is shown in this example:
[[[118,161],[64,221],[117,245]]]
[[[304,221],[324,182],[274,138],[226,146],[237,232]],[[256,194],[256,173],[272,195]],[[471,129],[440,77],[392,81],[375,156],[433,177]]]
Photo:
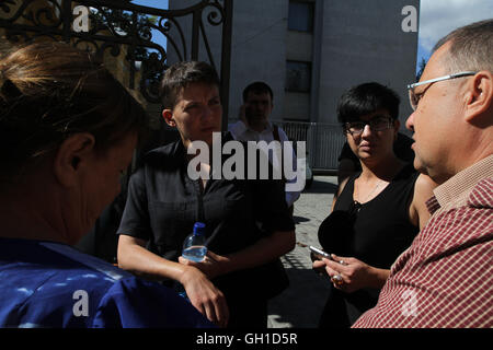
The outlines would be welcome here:
[[[395,120],[399,117],[399,95],[391,89],[377,82],[363,83],[351,88],[340,98],[337,119],[344,124],[360,116],[386,109]]]

